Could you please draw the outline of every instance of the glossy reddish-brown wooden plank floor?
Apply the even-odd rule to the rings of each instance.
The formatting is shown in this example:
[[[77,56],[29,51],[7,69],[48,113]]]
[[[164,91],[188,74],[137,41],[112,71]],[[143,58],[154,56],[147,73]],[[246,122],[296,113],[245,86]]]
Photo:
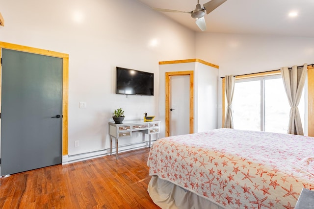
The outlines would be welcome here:
[[[159,209],[147,192],[149,148],[0,179],[0,209]]]

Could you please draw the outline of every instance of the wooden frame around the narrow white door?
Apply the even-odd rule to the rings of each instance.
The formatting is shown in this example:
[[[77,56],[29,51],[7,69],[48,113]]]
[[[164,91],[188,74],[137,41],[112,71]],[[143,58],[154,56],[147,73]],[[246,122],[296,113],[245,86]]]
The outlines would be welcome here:
[[[175,72],[166,72],[166,112],[165,112],[165,125],[166,132],[165,136],[169,137],[170,135],[170,126],[169,126],[169,111],[170,111],[170,76],[181,76],[189,75],[190,76],[190,134],[194,133],[194,71],[175,71]]]

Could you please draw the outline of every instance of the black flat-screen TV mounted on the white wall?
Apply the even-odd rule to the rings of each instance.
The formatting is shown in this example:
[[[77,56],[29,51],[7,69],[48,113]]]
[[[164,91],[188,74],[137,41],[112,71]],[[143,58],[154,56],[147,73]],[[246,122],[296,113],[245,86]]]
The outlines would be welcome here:
[[[116,68],[116,93],[154,95],[154,73]]]

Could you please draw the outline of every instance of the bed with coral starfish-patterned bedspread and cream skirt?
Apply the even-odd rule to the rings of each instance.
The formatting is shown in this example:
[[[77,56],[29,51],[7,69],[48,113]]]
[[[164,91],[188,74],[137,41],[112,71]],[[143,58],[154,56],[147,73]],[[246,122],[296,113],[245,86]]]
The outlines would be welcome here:
[[[314,138],[215,129],[158,139],[148,192],[163,209],[293,209],[314,190]]]

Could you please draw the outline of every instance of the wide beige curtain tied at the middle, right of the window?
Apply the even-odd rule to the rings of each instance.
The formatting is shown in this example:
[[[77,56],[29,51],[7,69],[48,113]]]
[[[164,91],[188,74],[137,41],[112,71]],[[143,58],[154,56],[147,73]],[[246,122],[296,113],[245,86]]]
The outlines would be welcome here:
[[[285,90],[288,96],[289,105],[291,107],[288,134],[303,135],[303,128],[298,105],[305,83],[307,67],[308,64],[304,64],[303,67],[300,68],[297,66],[292,66],[291,70],[289,70],[288,67],[280,69]]]

